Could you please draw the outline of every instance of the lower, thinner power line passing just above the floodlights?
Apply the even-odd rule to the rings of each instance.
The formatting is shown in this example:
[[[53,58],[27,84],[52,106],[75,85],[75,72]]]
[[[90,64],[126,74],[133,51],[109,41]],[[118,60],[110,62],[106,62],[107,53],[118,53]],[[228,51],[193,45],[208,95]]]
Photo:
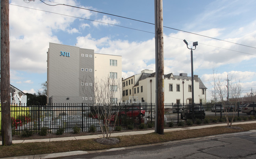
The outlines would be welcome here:
[[[10,5],[15,5],[15,4],[10,4]],[[24,7],[24,6],[20,6],[20,5],[15,5],[15,6],[17,6],[17,7]],[[81,18],[81,17],[77,17],[77,16],[65,15],[65,14],[61,14],[61,13],[56,13],[56,12],[51,12],[51,11],[45,11],[45,10],[35,9],[35,8],[30,8],[30,7],[24,7],[24,8],[33,9],[33,10],[37,10],[37,11],[43,11],[43,12],[52,13],[52,14],[57,14],[57,15],[69,16],[69,17],[73,17],[73,18],[79,18],[79,19],[83,19],[83,20],[89,20],[89,21],[92,21],[92,22],[99,22],[99,23],[102,23],[102,24],[108,24],[108,25],[111,25],[111,26],[123,27],[123,28],[126,28],[126,29],[132,29],[132,30],[136,30],[136,31],[142,31],[142,32],[145,32],[145,33],[155,34],[155,33],[150,32],[150,31],[145,31],[145,30],[141,30],[141,29],[135,29],[135,28],[132,28],[132,27],[120,26],[120,25],[116,25],[116,24],[110,24],[110,23],[106,23],[106,22],[100,22],[100,21],[97,21],[97,20],[91,20],[91,19]],[[169,38],[176,38],[176,37],[171,37],[171,36],[168,36],[168,35],[163,35],[163,36],[164,36],[164,37],[169,37]],[[176,39],[184,40],[184,39],[181,39],[181,38],[176,38]],[[203,43],[199,43],[199,44],[203,44]],[[221,48],[221,47],[212,46],[212,45],[208,45],[208,44],[203,44],[203,45],[211,46],[211,47],[215,47],[215,48],[219,48],[219,49],[226,49],[226,48]],[[251,54],[251,53],[245,53],[245,52],[236,51],[236,50],[232,50],[232,49],[226,49],[226,50],[234,51],[234,52],[238,52],[238,53],[244,53],[244,54],[248,54],[248,55],[254,55],[254,54]],[[254,56],[256,56],[256,55],[254,55]]]

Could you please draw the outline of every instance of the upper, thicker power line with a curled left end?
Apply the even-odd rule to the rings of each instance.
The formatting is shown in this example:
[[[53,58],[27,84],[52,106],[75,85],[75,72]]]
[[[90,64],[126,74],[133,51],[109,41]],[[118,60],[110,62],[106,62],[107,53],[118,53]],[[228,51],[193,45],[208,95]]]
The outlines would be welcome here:
[[[40,0],[40,1],[43,2],[43,0]],[[48,2],[50,2],[50,1],[48,1]],[[45,2],[43,2],[43,3],[46,4]],[[46,5],[50,5],[50,4],[46,4]],[[67,5],[67,4],[56,4],[56,5],[66,5],[66,6],[69,6],[69,7],[74,7],[74,8],[78,8],[78,9],[85,9],[85,10],[88,10],[88,11],[93,11],[93,12],[102,13],[102,14],[111,15],[111,16],[117,16],[119,18],[126,18],[126,19],[129,19],[129,20],[137,21],[137,22],[143,22],[143,23],[155,25],[154,23],[145,22],[145,21],[142,21],[142,20],[137,20],[137,19],[128,18],[128,17],[125,17],[125,16],[119,16],[119,15],[109,14],[109,13],[100,12],[100,11],[95,11],[95,10],[92,10],[92,9],[77,7],[77,6],[73,6],[73,5]],[[56,6],[56,5],[50,5],[50,6]],[[184,31],[184,30],[181,30],[181,29],[175,29],[175,28],[172,28],[172,27],[166,27],[166,26],[163,26],[163,27],[168,28],[168,29],[177,30],[177,31],[182,31],[182,32],[185,32],[185,33],[190,33],[190,34],[198,35],[198,36],[201,36],[201,37],[211,38],[211,39],[215,39],[215,40],[220,40],[220,41],[229,42],[229,43],[232,43],[232,44],[237,44],[237,45],[241,45],[241,46],[245,46],[245,47],[256,49],[256,47],[252,47],[252,46],[248,46],[248,45],[244,45],[244,44],[239,44],[239,43],[236,43],[236,42],[230,42],[230,41],[222,40],[222,39],[219,39],[219,38],[208,37],[206,35],[200,35],[200,34],[197,34],[197,33],[192,33],[192,32]]]

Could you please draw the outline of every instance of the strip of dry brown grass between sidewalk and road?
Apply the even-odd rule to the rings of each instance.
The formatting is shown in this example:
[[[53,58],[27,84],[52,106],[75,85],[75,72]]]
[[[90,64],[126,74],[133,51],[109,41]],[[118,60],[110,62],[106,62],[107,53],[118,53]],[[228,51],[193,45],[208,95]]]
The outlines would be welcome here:
[[[195,137],[204,137],[209,135],[218,135],[223,133],[245,132],[256,129],[256,124],[239,124],[236,127],[242,129],[230,129],[226,126],[217,126],[213,128],[203,128],[195,130],[182,130],[175,132],[166,132],[164,135],[149,133],[145,135],[131,135],[116,137],[120,143],[115,145],[104,145],[95,142],[95,139],[74,141],[55,141],[47,143],[22,143],[12,144],[11,146],[0,146],[0,157],[13,157],[23,155],[50,154],[55,152],[69,151],[90,151],[102,150],[108,148],[135,146],[142,144],[153,144],[166,141],[175,141]]]

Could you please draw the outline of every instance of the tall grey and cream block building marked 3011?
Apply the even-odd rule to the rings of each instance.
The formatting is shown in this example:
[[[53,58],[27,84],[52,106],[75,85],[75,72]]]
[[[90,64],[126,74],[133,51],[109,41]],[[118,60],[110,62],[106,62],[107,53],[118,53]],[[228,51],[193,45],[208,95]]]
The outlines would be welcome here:
[[[110,74],[121,80],[121,56],[49,43],[47,103],[93,103],[95,78],[106,79]]]

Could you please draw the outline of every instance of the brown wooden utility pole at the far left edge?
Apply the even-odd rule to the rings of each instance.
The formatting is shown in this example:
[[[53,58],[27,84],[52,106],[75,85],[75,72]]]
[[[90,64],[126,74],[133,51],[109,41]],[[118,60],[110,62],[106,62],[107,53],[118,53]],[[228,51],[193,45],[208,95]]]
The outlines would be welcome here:
[[[2,145],[11,145],[9,0],[1,0],[1,108]]]

